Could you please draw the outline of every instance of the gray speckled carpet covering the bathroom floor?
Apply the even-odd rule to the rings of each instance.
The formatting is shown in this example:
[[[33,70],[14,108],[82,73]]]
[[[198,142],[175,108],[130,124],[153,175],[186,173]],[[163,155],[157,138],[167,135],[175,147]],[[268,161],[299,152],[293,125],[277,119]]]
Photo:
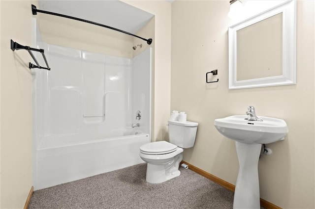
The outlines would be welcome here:
[[[181,175],[147,183],[147,164],[34,191],[29,209],[231,209],[234,193],[180,167]]]

